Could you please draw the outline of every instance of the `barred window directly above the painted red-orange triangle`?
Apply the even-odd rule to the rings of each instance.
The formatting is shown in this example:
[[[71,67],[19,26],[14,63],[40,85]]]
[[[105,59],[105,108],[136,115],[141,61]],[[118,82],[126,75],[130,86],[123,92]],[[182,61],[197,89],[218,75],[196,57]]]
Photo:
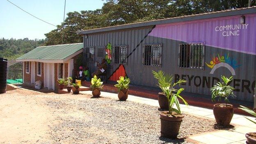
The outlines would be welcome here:
[[[127,45],[114,46],[114,64],[126,64]]]

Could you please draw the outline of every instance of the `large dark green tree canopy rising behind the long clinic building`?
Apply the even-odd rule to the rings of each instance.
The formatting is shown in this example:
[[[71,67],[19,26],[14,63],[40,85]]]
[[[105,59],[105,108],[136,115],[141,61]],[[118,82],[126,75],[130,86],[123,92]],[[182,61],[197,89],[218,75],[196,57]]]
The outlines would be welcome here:
[[[251,5],[256,5],[256,0],[251,0]],[[248,0],[106,0],[101,9],[69,12],[64,23],[45,34],[45,44],[62,44],[62,34],[63,44],[82,42],[75,33],[80,30],[247,6]]]

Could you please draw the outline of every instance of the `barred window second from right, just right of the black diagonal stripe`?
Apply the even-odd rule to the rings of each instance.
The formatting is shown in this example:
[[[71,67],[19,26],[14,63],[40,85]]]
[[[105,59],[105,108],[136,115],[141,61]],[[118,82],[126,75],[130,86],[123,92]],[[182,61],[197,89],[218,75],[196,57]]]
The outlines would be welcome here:
[[[143,47],[144,66],[162,66],[162,44],[146,44]]]

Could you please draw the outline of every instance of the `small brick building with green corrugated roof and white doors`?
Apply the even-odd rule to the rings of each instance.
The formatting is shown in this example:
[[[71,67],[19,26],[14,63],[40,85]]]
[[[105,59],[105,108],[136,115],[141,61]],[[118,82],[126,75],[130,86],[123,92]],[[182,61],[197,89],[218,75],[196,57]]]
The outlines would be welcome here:
[[[34,85],[40,80],[42,87],[59,89],[60,78],[72,77],[82,64],[83,43],[39,46],[17,58],[23,62],[23,85]]]

